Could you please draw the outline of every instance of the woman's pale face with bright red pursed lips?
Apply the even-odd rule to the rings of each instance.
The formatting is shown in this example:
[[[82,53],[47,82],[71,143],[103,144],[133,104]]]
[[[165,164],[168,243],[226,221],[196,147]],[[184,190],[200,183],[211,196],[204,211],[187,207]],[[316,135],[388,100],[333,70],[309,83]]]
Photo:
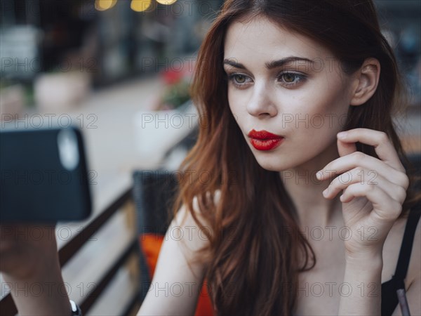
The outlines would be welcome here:
[[[260,166],[313,170],[335,158],[336,134],[355,87],[333,53],[266,18],[254,18],[229,26],[224,69],[229,107]],[[252,140],[253,129],[283,138]]]

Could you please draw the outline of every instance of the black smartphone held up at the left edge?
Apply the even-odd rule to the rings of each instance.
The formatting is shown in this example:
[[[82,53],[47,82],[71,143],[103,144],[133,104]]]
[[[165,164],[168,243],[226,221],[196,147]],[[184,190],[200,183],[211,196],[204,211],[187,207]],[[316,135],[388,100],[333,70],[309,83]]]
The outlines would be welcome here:
[[[92,211],[76,126],[0,130],[0,223],[83,220]]]

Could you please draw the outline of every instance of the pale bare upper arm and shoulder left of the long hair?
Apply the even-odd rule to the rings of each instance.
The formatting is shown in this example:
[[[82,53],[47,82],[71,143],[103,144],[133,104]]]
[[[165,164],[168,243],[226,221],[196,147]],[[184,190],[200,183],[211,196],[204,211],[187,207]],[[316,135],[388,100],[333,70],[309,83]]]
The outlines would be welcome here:
[[[206,226],[195,198],[192,210]],[[193,315],[199,298],[205,264],[196,261],[199,249],[208,244],[192,213],[183,205],[163,239],[145,301],[138,315]]]

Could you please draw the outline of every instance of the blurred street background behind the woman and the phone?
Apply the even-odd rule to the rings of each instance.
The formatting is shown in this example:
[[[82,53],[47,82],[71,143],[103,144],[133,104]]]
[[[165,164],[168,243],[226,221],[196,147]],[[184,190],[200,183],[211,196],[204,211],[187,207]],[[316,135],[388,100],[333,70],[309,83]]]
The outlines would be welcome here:
[[[138,308],[133,172],[175,171],[194,142],[189,82],[222,2],[0,2],[1,127],[74,124],[85,137],[93,216],[60,223],[57,237],[60,255],[68,257],[69,295],[86,315],[129,315]],[[420,152],[421,1],[375,4],[409,88],[410,105],[396,121],[407,152]],[[0,304],[10,303],[7,294],[1,286]]]

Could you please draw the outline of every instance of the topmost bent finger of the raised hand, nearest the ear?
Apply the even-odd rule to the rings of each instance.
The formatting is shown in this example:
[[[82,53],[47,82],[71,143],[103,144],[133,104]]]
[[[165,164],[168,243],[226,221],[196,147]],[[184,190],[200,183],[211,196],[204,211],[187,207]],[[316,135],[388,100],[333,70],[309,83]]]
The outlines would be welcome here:
[[[394,145],[384,132],[374,131],[373,129],[350,129],[349,131],[339,133],[338,138],[346,143],[360,142],[371,145],[374,147],[377,156],[383,162],[396,170],[405,171]]]

